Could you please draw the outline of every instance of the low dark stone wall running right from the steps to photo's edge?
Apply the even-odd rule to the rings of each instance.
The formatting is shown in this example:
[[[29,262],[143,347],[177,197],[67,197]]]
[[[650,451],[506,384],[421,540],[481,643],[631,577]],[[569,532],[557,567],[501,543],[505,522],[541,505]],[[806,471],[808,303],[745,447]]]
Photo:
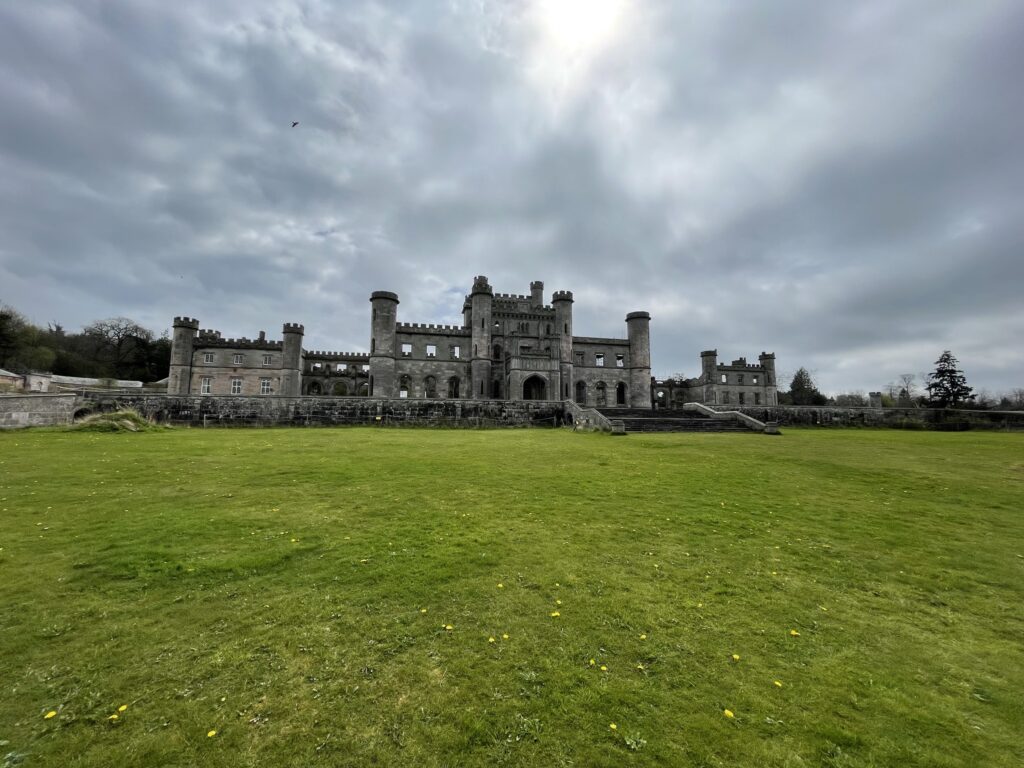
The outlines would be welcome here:
[[[895,429],[1018,429],[1024,411],[944,411],[930,408],[837,408],[835,406],[712,406],[790,427],[892,427]]]

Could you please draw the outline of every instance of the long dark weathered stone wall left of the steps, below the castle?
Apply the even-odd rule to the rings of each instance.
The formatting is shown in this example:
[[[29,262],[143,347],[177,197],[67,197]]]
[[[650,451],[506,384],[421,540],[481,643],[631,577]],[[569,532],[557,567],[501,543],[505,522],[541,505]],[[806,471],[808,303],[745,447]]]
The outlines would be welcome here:
[[[381,397],[245,397],[90,394],[91,408],[133,408],[147,418],[196,427],[560,426],[561,402],[534,400],[391,399]]]

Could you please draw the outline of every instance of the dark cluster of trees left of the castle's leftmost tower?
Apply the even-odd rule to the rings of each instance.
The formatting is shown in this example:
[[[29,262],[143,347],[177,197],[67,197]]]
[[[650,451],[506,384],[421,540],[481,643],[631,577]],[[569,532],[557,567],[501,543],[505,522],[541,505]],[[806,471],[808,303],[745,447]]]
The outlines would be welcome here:
[[[58,323],[42,328],[0,304],[0,369],[11,373],[153,382],[167,376],[170,361],[167,332],[158,336],[129,317],[96,321],[68,333]]]

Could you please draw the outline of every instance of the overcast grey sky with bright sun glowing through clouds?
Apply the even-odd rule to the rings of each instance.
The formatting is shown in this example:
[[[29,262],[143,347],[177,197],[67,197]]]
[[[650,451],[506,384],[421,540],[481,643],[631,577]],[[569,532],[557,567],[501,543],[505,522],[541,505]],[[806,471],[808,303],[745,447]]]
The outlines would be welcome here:
[[[654,373],[1024,387],[1020,0],[0,3],[0,302],[366,351],[474,274]],[[299,121],[295,128],[292,121]]]

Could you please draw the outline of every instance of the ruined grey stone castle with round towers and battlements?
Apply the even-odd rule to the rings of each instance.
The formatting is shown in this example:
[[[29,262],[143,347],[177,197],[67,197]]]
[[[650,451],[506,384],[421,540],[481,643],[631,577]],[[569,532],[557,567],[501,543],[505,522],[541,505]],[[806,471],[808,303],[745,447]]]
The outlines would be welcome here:
[[[199,321],[175,317],[169,394],[334,395],[393,398],[574,400],[594,408],[651,408],[688,401],[775,404],[774,355],[761,366],[718,366],[701,354],[701,376],[654,382],[650,376],[650,315],[626,315],[625,338],[575,336],[572,293],[544,301],[544,284],[529,294],[496,294],[473,280],[461,326],[401,323],[398,297],[370,297],[370,352],[302,347],[304,328],[287,323],[280,341],[223,338]],[[739,372],[739,369],[742,372]],[[732,377],[730,379],[730,377]]]

